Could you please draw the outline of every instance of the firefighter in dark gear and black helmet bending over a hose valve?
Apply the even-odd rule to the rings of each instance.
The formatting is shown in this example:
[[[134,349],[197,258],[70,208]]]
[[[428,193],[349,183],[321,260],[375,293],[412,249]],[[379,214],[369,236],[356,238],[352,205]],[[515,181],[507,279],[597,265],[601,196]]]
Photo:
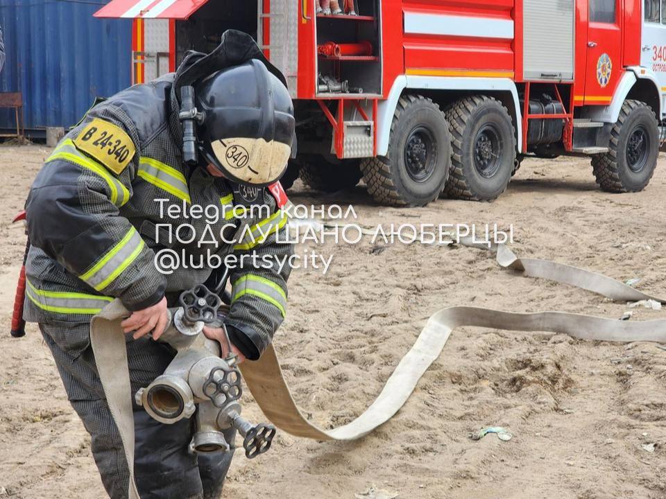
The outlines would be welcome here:
[[[157,251],[291,254],[291,245],[276,240],[286,230],[286,218],[264,189],[282,175],[290,154],[293,107],[283,82],[249,37],[227,32],[213,53],[188,53],[175,74],[130,87],[89,110],[46,159],[33,184],[26,204],[32,247],[25,317],[40,324],[69,400],[92,436],[92,453],[112,498],[127,496],[128,469],[96,374],[89,321],[113,297],[133,311],[122,326],[134,332],[127,335],[134,393],[173,358],[170,347],[147,335],[154,330],[157,337],[164,329],[167,302],[173,305],[180,291],[212,278],[210,268],[191,265],[165,275],[155,268]],[[188,130],[179,91],[188,85],[203,112],[194,127],[198,164],[184,161]],[[230,148],[242,149],[247,157],[231,154]],[[224,216],[212,225],[189,218],[187,210],[169,218],[169,204],[217,204]],[[250,214],[239,218],[243,210],[228,209],[232,204],[244,205]],[[253,217],[247,209],[253,204],[268,205],[268,217],[265,210],[255,210],[264,211],[263,218]],[[193,225],[196,237],[189,244],[176,238],[169,243],[168,234],[156,232],[164,223],[174,232],[180,224]],[[217,247],[203,238],[198,245],[206,224],[212,234],[227,225],[226,240],[241,227],[256,237],[234,245],[218,241]],[[258,235],[259,228],[267,238]],[[182,232],[181,239],[189,240],[189,234]],[[282,322],[289,274],[288,265],[278,272],[265,260],[261,267],[253,262],[245,259],[243,267],[232,270],[232,304],[225,319],[234,348],[249,359],[259,358]],[[221,340],[223,333],[209,328],[205,334]],[[221,347],[225,351],[225,342]],[[219,496],[233,450],[191,454],[189,419],[167,426],[137,406],[134,416],[135,475],[142,498]],[[227,441],[233,442],[232,435]]]

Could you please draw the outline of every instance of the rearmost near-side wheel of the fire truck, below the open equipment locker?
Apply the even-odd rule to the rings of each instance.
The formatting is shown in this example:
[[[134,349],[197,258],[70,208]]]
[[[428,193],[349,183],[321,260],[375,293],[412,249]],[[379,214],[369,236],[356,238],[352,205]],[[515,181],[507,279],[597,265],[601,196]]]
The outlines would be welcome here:
[[[425,206],[444,189],[451,168],[451,136],[439,106],[429,98],[398,100],[386,157],[361,161],[368,193],[380,204]]]

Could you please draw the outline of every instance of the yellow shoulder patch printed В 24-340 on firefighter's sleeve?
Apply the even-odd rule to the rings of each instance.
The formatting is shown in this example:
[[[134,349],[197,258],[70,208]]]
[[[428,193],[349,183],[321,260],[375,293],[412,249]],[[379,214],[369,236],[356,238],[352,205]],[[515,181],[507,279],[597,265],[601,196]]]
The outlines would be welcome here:
[[[116,175],[123,173],[137,152],[132,139],[122,128],[99,118],[85,125],[74,144]]]

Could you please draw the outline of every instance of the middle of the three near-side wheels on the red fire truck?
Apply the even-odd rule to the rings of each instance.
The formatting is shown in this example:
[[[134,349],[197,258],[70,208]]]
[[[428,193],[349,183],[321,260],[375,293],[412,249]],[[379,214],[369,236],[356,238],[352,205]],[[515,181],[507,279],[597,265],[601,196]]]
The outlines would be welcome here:
[[[492,97],[470,96],[452,104],[446,118],[453,137],[453,170],[445,194],[474,201],[496,199],[518,170],[506,107]]]

